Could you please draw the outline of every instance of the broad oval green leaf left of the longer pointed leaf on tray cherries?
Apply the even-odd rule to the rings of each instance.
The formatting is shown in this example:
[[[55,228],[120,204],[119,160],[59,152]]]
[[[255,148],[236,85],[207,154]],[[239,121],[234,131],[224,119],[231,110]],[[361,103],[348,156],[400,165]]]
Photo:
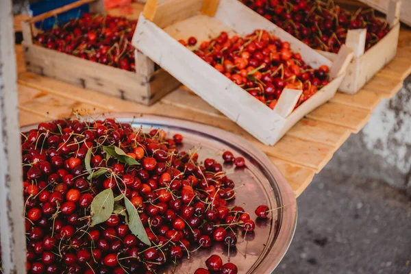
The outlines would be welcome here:
[[[114,209],[113,190],[101,191],[91,202],[91,226],[107,221]]]

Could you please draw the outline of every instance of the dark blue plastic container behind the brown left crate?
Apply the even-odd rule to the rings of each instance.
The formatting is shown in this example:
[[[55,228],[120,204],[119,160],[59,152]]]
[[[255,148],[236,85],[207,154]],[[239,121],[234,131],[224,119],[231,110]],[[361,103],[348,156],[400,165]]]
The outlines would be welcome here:
[[[76,1],[77,0],[43,0],[30,4],[29,10],[32,13],[32,16],[36,16]],[[57,18],[53,16],[45,19],[44,21],[37,22],[36,27],[42,30],[51,29],[55,24],[61,25],[68,22],[70,18],[78,18],[83,12],[89,12],[88,4],[84,4],[78,8],[74,8],[73,10],[58,14]]]

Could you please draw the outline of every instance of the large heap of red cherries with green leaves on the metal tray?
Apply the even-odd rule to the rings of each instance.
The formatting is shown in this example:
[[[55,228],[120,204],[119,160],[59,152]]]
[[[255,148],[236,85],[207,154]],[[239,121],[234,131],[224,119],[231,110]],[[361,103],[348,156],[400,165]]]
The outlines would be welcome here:
[[[255,229],[234,206],[222,165],[179,151],[179,134],[73,119],[21,136],[28,273],[155,273],[214,242],[234,246],[238,229]],[[245,166],[230,151],[223,160]],[[269,211],[260,206],[256,215]],[[207,260],[210,271],[237,273],[217,259]]]

